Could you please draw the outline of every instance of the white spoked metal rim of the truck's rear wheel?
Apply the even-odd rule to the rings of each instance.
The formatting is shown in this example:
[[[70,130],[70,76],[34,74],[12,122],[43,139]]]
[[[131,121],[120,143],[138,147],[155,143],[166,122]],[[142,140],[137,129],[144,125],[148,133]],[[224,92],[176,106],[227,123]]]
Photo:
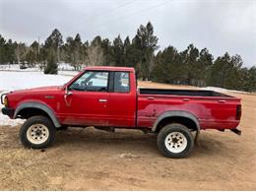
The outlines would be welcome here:
[[[166,136],[164,145],[169,152],[178,154],[186,149],[187,138],[180,132],[171,132]]]

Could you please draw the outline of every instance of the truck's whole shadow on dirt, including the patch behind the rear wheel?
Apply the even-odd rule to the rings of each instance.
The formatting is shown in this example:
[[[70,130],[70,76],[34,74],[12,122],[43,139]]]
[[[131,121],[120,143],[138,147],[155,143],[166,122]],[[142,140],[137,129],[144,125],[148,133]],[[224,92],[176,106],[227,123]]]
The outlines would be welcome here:
[[[72,150],[123,151],[127,153],[144,153],[160,155],[156,134],[144,134],[139,130],[117,130],[115,133],[96,130],[94,128],[69,128],[58,131],[54,148],[69,148]],[[189,158],[222,155],[226,150],[225,143],[205,134]]]

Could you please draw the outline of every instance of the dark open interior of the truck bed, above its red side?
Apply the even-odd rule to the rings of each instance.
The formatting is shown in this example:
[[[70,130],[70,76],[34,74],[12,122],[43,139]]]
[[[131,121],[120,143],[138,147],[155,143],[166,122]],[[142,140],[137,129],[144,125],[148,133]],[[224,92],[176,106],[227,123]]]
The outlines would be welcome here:
[[[172,96],[222,96],[232,97],[213,91],[204,90],[170,90],[170,89],[139,89],[140,95],[172,95]]]

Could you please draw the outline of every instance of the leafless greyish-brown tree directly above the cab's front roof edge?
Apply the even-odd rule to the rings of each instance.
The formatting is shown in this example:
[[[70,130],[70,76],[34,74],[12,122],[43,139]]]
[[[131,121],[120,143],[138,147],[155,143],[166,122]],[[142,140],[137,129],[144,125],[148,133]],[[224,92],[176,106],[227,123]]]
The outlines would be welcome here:
[[[104,63],[105,57],[100,44],[91,44],[87,49],[87,62],[91,66],[99,66]]]

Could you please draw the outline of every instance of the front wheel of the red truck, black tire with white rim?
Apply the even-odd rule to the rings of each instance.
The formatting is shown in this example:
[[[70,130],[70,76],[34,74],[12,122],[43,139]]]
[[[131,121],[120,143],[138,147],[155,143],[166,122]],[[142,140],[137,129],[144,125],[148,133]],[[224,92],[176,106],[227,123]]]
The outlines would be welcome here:
[[[33,116],[21,127],[20,139],[26,147],[46,148],[54,141],[55,131],[50,119],[45,116]]]

